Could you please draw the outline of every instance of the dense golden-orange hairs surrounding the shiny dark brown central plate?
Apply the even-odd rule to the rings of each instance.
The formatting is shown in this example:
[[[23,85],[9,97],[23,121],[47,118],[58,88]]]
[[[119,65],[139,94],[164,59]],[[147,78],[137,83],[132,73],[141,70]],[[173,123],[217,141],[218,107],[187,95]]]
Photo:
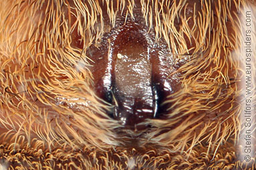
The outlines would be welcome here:
[[[255,7],[247,0],[1,0],[0,169],[256,169],[256,157],[241,160],[238,150],[247,102],[243,18],[250,9],[256,42]],[[135,22],[138,11],[164,55],[182,63],[168,72],[179,88],[162,103],[172,103],[164,119],[118,135],[122,125],[106,113],[112,106],[94,91],[89,49],[118,24]]]

